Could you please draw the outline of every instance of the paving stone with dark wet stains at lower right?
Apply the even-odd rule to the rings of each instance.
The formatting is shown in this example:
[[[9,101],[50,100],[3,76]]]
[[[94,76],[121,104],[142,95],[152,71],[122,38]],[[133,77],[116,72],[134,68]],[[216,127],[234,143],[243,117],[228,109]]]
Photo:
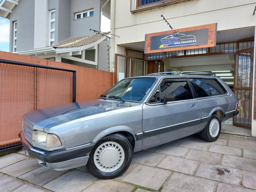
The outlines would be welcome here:
[[[240,185],[240,172],[239,169],[235,168],[201,163],[196,171],[196,176],[232,185]]]

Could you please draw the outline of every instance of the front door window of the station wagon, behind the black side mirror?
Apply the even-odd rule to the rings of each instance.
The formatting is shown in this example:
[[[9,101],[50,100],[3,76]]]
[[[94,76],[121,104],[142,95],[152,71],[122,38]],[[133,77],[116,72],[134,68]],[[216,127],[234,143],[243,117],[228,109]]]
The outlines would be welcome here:
[[[160,98],[161,102],[164,100],[165,94],[172,94],[176,96],[176,100],[193,99],[192,92],[186,80],[165,80],[160,85]]]

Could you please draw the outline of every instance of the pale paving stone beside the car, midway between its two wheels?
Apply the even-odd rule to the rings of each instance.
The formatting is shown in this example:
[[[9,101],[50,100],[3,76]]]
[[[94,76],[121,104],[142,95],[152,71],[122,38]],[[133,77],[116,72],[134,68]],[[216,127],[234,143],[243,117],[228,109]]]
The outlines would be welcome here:
[[[176,156],[176,157],[183,157],[188,152],[188,148],[163,145],[160,148],[158,148],[155,152]]]

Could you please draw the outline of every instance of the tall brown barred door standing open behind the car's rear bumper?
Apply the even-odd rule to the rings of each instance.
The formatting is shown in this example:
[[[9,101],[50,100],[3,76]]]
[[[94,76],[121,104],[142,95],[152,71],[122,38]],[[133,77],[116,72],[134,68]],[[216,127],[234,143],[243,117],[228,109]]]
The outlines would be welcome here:
[[[233,124],[248,129],[252,127],[252,70],[253,49],[236,52],[234,92],[239,100],[239,114]]]

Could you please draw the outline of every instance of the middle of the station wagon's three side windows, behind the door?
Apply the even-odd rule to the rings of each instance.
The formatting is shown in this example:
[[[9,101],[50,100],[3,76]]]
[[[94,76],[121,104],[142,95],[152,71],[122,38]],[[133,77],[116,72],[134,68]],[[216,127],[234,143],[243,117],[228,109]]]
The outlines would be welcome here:
[[[211,92],[203,79],[195,78],[189,79],[189,81],[191,82],[197,97],[211,96]]]

